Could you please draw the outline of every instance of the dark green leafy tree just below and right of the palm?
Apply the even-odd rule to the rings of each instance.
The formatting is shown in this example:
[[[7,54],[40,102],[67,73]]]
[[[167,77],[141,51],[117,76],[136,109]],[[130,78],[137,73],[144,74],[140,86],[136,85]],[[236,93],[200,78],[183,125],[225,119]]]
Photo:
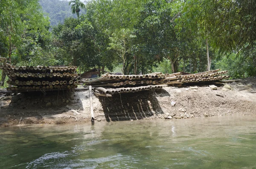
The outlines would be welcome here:
[[[110,39],[93,19],[91,13],[81,15],[79,19],[80,23],[76,29],[82,37],[81,42],[86,46],[87,59],[84,63],[86,63],[87,68],[85,69],[97,66],[102,69],[102,74],[105,73],[106,68],[112,71],[116,58],[113,50],[108,49]]]

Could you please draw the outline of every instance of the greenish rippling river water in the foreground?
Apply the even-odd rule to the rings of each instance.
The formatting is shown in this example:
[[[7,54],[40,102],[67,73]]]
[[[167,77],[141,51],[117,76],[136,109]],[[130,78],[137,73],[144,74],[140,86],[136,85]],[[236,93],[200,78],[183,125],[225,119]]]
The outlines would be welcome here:
[[[255,169],[256,117],[0,128],[0,169]]]

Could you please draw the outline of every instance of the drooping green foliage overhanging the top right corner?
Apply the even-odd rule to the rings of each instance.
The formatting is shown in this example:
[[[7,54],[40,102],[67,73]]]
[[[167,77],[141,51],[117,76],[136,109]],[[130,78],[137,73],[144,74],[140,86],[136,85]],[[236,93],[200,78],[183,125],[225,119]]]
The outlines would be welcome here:
[[[221,52],[253,48],[256,40],[255,0],[187,0],[184,19],[210,37]],[[203,28],[203,29],[202,29]]]

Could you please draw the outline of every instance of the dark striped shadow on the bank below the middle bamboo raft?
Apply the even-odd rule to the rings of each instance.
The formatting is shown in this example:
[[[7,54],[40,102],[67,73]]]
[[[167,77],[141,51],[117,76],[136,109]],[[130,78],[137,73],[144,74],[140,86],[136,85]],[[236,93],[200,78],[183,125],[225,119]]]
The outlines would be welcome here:
[[[162,89],[162,92],[165,90]],[[125,93],[114,97],[99,97],[107,121],[140,120],[163,114],[154,91]],[[168,92],[164,92],[168,93]]]

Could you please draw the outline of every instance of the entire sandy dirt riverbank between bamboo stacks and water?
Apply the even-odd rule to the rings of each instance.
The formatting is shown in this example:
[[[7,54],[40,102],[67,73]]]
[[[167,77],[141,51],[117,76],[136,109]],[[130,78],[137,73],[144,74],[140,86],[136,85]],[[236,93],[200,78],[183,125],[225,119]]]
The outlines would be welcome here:
[[[224,88],[224,84],[216,85],[217,90],[206,85],[166,86],[157,91],[127,93],[117,97],[93,96],[95,123],[105,120],[256,115],[256,78],[228,85],[230,89]],[[90,121],[88,91],[2,95],[0,107],[0,126]]]

